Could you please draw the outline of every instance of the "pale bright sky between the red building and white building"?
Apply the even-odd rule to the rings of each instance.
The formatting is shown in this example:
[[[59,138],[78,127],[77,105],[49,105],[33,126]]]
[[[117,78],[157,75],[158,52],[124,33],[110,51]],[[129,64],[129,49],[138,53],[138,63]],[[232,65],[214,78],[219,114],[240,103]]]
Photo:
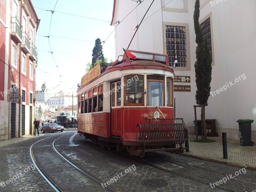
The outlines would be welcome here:
[[[114,0],[32,0],[41,19],[36,35],[36,90],[41,90],[45,82],[51,92],[61,90],[76,95],[86,64],[92,63],[97,38],[105,41],[104,57],[115,60],[115,32],[110,26],[113,3]]]

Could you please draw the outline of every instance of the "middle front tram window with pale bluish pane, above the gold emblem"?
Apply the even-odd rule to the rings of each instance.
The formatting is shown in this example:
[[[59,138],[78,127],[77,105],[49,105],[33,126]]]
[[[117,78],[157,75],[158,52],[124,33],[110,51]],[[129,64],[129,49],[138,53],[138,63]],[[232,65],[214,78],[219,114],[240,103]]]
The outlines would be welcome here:
[[[164,106],[164,81],[148,79],[148,106]]]

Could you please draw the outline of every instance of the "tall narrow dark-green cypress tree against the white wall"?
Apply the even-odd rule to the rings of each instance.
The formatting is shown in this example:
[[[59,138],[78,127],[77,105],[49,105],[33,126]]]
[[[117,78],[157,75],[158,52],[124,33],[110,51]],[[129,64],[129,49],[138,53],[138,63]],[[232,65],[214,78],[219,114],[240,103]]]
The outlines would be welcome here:
[[[196,73],[196,104],[208,105],[208,99],[211,91],[212,81],[212,58],[208,49],[206,39],[204,39],[201,26],[199,24],[200,16],[200,2],[196,0],[195,12],[194,12],[194,27],[196,33],[196,62],[195,62],[195,73]],[[203,108],[201,108],[201,122],[203,122]],[[203,123],[201,123],[203,127]],[[205,127],[205,126],[204,126]],[[204,130],[206,133],[206,130]],[[203,135],[203,134],[202,134]],[[204,134],[206,140],[206,134]]]

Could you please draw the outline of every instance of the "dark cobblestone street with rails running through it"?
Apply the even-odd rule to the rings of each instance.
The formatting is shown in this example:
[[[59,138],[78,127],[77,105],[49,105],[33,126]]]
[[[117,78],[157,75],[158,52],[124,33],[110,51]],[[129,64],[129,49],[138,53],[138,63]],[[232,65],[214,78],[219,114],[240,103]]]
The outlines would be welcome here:
[[[56,140],[55,148],[71,163],[102,181],[102,185],[77,172],[52,150],[52,140],[60,136],[63,137]],[[256,172],[251,170],[168,152],[130,158],[97,146],[76,131],[65,131],[1,148],[1,191],[55,191],[35,169],[29,156],[30,146],[38,140],[42,141],[33,147],[36,161],[62,191],[107,191],[104,184],[116,191],[133,192],[256,190]],[[227,175],[231,174],[233,178],[229,179]],[[217,183],[227,177],[225,183]],[[150,188],[141,183],[146,179],[160,179],[168,184]]]

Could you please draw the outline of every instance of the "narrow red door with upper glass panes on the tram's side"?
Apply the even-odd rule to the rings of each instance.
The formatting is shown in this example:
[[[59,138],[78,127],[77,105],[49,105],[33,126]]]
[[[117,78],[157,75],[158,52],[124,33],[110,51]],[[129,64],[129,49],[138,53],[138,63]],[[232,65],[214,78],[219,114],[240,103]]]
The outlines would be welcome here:
[[[121,82],[111,84],[111,136],[121,136]]]

